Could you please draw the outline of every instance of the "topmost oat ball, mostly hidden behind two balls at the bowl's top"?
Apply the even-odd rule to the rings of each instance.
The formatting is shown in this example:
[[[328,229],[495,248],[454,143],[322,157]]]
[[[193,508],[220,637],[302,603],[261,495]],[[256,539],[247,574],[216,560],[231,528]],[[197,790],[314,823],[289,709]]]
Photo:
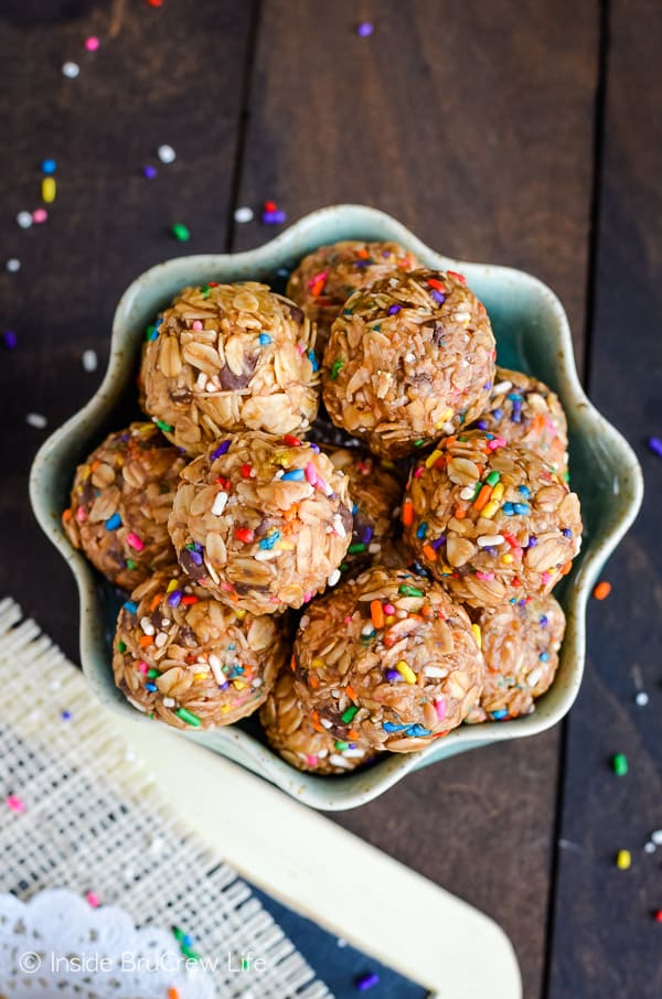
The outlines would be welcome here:
[[[397,243],[364,243],[345,239],[303,257],[292,271],[287,293],[317,323],[316,352],[322,357],[331,325],[349,297],[357,288],[393,271],[415,270],[420,262]]]

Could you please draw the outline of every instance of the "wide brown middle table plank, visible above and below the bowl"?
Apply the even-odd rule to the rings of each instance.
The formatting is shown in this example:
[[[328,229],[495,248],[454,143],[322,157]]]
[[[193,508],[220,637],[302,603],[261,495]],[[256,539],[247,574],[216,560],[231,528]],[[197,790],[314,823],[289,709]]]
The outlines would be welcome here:
[[[374,34],[356,35],[359,17]],[[568,24],[572,23],[572,31]],[[567,304],[578,353],[597,11],[589,4],[266,0],[241,204],[391,212],[430,246],[528,269]],[[237,248],[268,238],[237,227]],[[541,995],[558,732],[414,774],[338,820],[483,909]]]

